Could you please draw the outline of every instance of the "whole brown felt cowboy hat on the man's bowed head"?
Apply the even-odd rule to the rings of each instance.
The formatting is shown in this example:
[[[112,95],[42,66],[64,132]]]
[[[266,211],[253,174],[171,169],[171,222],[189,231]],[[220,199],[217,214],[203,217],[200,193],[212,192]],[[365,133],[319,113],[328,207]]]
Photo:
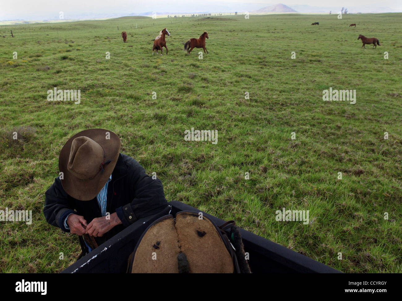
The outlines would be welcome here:
[[[72,136],[59,156],[64,190],[81,201],[96,197],[115,168],[120,146],[120,138],[103,128],[84,130]]]

